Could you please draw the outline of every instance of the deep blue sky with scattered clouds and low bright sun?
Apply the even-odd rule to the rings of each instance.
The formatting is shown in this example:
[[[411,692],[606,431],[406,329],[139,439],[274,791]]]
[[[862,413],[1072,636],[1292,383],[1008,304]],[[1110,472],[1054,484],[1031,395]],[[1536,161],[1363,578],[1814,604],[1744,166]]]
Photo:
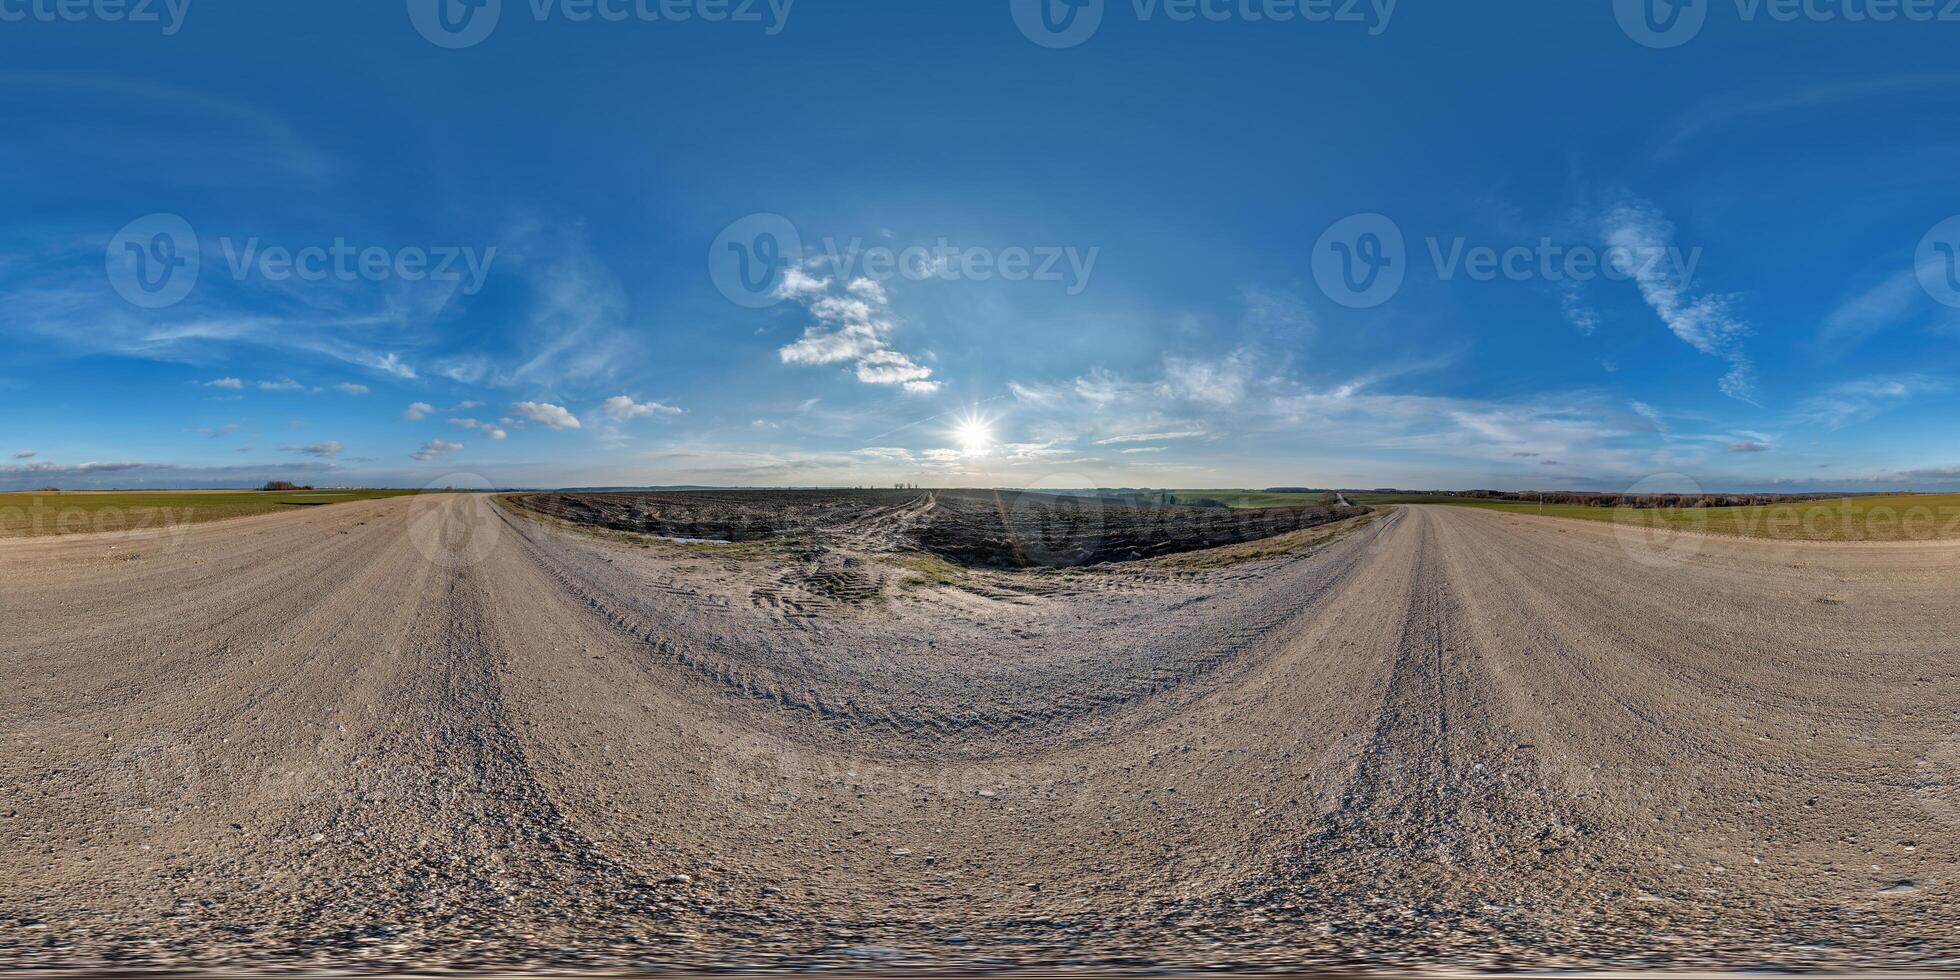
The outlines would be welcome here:
[[[0,488],[1954,490],[1954,51],[1921,0],[0,0]]]

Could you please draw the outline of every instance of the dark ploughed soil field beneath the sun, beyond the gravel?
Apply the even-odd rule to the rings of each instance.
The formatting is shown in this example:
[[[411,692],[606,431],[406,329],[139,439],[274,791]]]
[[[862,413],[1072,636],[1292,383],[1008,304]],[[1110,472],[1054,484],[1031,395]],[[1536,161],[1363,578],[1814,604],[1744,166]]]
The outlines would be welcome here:
[[[1017,490],[755,490],[525,494],[551,517],[704,541],[855,537],[878,527],[898,549],[984,568],[1066,568],[1258,541],[1368,508],[1180,508]],[[894,517],[904,517],[894,521]]]

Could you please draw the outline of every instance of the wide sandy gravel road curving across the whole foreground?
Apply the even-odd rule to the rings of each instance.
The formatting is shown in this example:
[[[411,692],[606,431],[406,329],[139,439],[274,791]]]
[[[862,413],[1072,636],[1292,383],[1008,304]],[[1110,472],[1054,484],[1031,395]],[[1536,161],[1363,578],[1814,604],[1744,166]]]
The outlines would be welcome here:
[[[1409,508],[866,598],[472,496],[6,541],[0,962],[1950,964],[1960,549],[1637,555]]]

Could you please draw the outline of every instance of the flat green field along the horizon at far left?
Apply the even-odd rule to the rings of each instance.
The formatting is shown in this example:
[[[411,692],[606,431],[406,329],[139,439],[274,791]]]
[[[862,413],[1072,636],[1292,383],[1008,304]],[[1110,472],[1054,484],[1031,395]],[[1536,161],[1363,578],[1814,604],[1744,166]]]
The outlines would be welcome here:
[[[180,527],[410,492],[414,490],[0,494],[0,537]]]

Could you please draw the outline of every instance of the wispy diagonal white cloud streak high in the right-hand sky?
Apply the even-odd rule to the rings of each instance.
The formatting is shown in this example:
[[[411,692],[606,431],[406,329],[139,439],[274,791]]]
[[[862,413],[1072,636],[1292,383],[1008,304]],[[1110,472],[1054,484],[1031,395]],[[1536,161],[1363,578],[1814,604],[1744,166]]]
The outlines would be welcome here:
[[[1742,349],[1752,329],[1735,314],[1737,296],[1695,292],[1693,263],[1682,259],[1674,223],[1650,204],[1621,204],[1603,225],[1613,267],[1641,286],[1646,306],[1690,347],[1729,361],[1723,394],[1756,404],[1756,368]]]

